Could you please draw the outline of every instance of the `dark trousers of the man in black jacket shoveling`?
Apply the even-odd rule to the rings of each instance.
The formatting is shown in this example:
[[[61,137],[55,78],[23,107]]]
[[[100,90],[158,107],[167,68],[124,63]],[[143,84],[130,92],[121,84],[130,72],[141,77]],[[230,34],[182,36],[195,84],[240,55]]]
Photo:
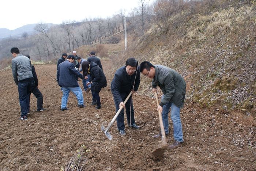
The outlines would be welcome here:
[[[123,102],[127,98],[128,95],[129,94],[125,95],[125,98],[122,99]],[[116,112],[117,112],[119,110],[119,104],[117,104],[116,100],[114,100],[114,101],[115,101]],[[131,126],[135,125],[134,110],[133,110],[133,104],[131,106],[131,101],[132,101],[132,96],[130,96],[130,98],[125,103],[126,117],[127,117],[127,122],[128,122],[129,126],[130,126],[130,108],[131,108]],[[116,122],[117,122],[117,129],[124,130],[124,127],[125,127],[124,126],[124,108],[121,110],[121,112],[117,116]]]

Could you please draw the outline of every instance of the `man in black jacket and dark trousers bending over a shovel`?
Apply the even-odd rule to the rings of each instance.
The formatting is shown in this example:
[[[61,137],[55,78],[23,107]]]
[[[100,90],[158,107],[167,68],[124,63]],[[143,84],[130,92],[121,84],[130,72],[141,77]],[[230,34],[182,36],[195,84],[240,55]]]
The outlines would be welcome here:
[[[114,78],[111,82],[111,91],[114,96],[114,102],[116,105],[116,112],[121,106],[125,106],[128,125],[132,128],[139,129],[140,127],[135,124],[134,110],[132,104],[132,96],[124,105],[124,101],[131,91],[136,92],[140,85],[140,72],[138,61],[135,58],[128,58],[125,62],[125,66],[117,69]],[[131,109],[131,110],[130,110]],[[131,115],[131,121],[130,121]],[[116,118],[117,129],[121,135],[125,135],[124,131],[124,109]]]

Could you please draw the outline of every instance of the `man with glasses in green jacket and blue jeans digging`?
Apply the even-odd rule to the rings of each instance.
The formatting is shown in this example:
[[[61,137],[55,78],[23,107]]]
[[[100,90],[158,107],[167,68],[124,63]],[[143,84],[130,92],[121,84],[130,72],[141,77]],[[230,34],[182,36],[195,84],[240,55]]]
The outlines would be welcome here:
[[[186,83],[181,75],[171,68],[163,65],[152,65],[150,62],[144,61],[140,64],[141,73],[152,79],[152,92],[157,91],[157,86],[161,88],[163,97],[161,103],[157,107],[162,113],[163,126],[165,134],[169,134],[168,129],[168,113],[171,109],[171,119],[173,122],[174,143],[169,148],[177,148],[184,143],[182,125],[180,119],[180,108],[184,105]],[[160,138],[161,132],[154,136],[155,139]]]

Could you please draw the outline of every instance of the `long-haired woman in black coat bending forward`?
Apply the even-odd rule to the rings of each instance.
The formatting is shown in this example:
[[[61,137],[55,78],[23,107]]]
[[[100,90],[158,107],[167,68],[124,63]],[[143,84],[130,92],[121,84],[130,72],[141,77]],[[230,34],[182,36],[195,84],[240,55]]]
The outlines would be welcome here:
[[[96,109],[101,109],[101,98],[99,97],[99,92],[101,91],[101,88],[107,87],[107,79],[105,74],[103,73],[102,69],[99,68],[99,66],[94,62],[88,62],[84,61],[82,63],[83,68],[83,76],[86,77],[88,74],[90,74],[90,80],[87,83],[87,86],[91,83],[97,83],[99,84],[99,88],[97,91],[93,90],[93,85],[91,86],[91,93],[93,95],[93,103],[91,103],[89,106],[95,106],[97,104]]]

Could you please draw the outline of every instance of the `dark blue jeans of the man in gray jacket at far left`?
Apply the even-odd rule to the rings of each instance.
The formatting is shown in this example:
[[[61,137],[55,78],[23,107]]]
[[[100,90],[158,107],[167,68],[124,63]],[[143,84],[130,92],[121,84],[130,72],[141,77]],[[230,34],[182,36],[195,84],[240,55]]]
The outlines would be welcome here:
[[[29,92],[33,82],[18,82],[19,104],[21,108],[21,117],[27,116],[27,106],[29,106]]]

